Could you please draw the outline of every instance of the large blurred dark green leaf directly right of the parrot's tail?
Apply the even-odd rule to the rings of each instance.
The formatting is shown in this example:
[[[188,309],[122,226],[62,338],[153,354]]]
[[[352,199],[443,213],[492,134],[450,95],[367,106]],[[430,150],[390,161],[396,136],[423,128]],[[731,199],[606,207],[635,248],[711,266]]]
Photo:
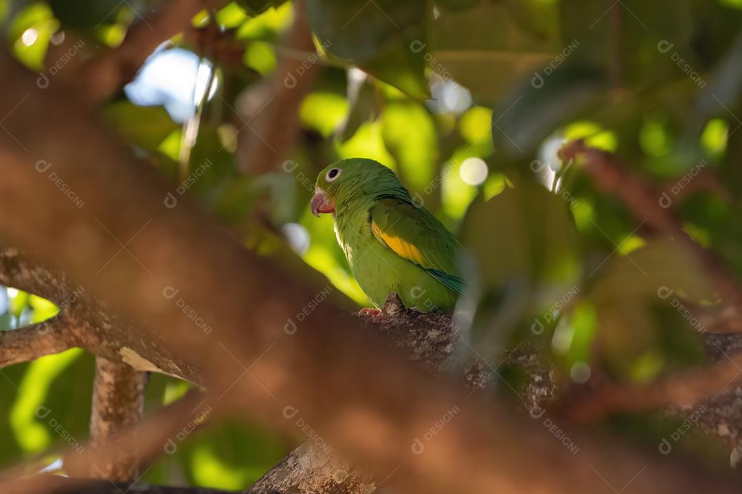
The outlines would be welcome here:
[[[518,178],[515,187],[489,201],[475,200],[461,240],[471,256],[464,264],[469,287],[461,305],[476,307],[471,344],[489,361],[523,326],[519,321],[539,324],[534,313],[551,313],[557,299],[579,292],[576,232],[567,202],[530,178]]]

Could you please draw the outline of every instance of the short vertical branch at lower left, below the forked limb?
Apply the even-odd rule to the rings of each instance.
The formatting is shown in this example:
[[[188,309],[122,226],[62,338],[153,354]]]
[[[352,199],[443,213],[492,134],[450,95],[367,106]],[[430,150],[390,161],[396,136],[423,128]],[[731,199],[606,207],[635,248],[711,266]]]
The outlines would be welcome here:
[[[102,447],[116,444],[122,431],[142,420],[147,374],[128,364],[97,357],[93,381],[91,411],[91,444]],[[139,448],[121,450],[113,461],[96,464],[91,469],[94,478],[126,482],[137,478]]]

